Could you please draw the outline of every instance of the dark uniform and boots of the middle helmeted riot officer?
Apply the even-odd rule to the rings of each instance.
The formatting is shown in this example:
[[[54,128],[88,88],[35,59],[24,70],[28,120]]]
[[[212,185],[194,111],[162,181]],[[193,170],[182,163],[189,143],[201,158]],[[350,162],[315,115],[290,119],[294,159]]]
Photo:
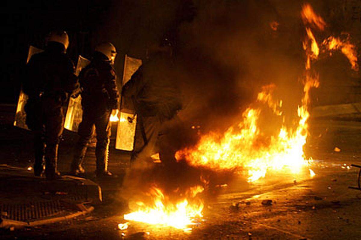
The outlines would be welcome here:
[[[91,63],[79,75],[83,117],[79,125],[80,139],[75,146],[71,172],[81,169],[93,127],[96,130],[96,173],[108,173],[108,148],[110,137],[109,117],[112,109],[118,109],[119,93],[113,65],[103,53],[95,52]]]

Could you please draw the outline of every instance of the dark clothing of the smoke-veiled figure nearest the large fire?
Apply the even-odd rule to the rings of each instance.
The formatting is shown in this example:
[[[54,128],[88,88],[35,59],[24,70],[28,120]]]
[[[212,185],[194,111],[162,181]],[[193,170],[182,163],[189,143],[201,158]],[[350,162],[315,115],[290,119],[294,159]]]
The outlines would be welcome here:
[[[173,118],[182,107],[172,71],[170,58],[157,53],[123,86],[125,103],[128,106],[132,103],[138,115],[131,161],[146,161],[155,153],[162,123]]]

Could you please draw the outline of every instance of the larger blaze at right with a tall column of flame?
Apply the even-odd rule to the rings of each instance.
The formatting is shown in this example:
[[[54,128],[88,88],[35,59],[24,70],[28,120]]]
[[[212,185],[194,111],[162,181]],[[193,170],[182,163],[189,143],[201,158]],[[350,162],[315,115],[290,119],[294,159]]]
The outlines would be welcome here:
[[[312,61],[318,59],[320,47],[311,28],[324,30],[325,21],[316,14],[309,4],[302,8],[301,17],[305,23],[305,74],[302,80],[304,96],[297,109],[299,119],[293,128],[281,126],[278,135],[266,136],[258,125],[261,108],[247,108],[237,126],[231,126],[224,134],[209,133],[203,135],[196,146],[179,150],[177,160],[186,160],[194,166],[211,169],[230,169],[247,174],[248,181],[253,182],[265,177],[267,172],[289,170],[299,173],[309,166],[311,159],[306,159],[303,146],[308,135],[309,92],[319,86],[318,74],[311,71]],[[322,43],[324,52],[340,49],[349,59],[354,70],[358,69],[355,47],[349,39],[329,37]],[[282,101],[274,101],[272,92],[274,84],[264,86],[258,94],[257,101],[265,103],[273,113],[282,119]],[[310,175],[314,172],[310,169]]]

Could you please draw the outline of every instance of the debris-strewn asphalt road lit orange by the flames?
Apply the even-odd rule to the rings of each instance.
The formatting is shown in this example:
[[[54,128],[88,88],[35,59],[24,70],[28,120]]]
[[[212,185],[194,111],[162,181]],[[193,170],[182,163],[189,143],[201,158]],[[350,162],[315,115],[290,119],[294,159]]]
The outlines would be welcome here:
[[[357,185],[358,169],[347,168],[352,163],[361,165],[361,123],[312,120],[310,126],[305,149],[315,160],[313,178],[308,169],[299,175],[268,175],[252,184],[232,178],[216,197],[206,199],[203,221],[191,232],[136,222],[126,231],[117,230],[127,212],[120,189],[129,155],[112,150],[110,170],[120,178],[101,183],[104,202],[93,213],[52,225],[2,230],[0,239],[361,239],[361,192],[348,189]],[[0,163],[30,165],[31,133],[5,120],[0,128]],[[64,134],[60,147],[63,172],[69,166],[74,141],[76,134]],[[335,152],[335,147],[341,151]],[[87,153],[85,168],[92,177],[93,148]],[[263,205],[263,200],[272,200],[272,204]]]

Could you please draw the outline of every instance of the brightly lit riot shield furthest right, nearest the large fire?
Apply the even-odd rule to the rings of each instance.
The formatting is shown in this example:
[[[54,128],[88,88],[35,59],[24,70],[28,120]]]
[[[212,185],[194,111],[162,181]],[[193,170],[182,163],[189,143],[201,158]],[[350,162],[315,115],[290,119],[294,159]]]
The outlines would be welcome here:
[[[131,76],[142,65],[142,60],[125,55],[122,86],[130,80]],[[135,112],[126,109],[123,101],[119,114],[117,139],[115,148],[118,150],[132,151],[134,148],[136,115]]]

